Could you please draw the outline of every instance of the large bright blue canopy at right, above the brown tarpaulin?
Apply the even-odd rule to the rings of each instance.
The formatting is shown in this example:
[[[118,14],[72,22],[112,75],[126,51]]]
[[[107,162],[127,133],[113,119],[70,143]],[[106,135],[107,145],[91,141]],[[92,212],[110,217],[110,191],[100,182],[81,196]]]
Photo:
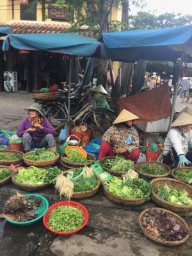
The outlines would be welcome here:
[[[103,33],[100,42],[105,46],[102,58],[111,60],[175,61],[185,52],[192,61],[192,25]]]

